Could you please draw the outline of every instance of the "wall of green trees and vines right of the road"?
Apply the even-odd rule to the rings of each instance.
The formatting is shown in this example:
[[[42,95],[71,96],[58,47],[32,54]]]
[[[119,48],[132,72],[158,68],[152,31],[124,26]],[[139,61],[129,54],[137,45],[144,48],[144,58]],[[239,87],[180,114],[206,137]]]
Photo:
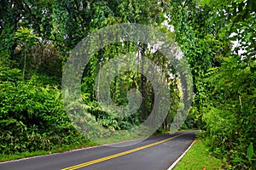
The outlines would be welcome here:
[[[256,127],[254,7],[253,0],[203,0],[165,8],[194,76],[190,114],[212,152],[237,169],[255,169],[247,156]]]

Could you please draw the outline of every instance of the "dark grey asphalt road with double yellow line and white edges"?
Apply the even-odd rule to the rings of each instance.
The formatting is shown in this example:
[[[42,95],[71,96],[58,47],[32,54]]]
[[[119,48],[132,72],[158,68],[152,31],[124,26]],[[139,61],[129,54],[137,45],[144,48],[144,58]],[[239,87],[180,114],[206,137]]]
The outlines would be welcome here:
[[[194,139],[194,131],[165,134],[125,147],[109,144],[1,162],[0,170],[166,170]]]

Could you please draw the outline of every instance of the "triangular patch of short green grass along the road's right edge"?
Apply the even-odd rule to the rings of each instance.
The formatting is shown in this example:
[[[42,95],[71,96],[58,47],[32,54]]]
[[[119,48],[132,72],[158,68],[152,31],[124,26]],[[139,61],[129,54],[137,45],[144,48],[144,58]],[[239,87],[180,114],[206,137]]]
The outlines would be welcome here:
[[[212,170],[222,169],[223,165],[224,163],[221,160],[210,155],[207,151],[207,146],[201,139],[196,139],[195,144],[193,144],[173,170]]]

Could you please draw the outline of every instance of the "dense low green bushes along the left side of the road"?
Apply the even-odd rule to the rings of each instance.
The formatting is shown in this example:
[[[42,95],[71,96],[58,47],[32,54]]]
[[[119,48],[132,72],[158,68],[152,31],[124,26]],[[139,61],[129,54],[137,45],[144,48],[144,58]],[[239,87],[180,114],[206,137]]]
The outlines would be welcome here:
[[[44,87],[35,77],[29,82],[1,82],[0,108],[3,154],[51,150],[83,139],[68,120],[61,92]]]

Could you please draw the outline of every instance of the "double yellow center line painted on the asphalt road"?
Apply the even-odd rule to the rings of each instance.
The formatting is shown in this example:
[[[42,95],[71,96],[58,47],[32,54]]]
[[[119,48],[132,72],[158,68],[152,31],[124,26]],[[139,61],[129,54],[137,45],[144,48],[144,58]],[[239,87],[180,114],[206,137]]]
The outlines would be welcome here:
[[[141,147],[138,147],[138,148],[135,148],[135,149],[132,149],[132,150],[127,150],[127,151],[124,151],[124,152],[120,152],[118,154],[114,154],[112,156],[106,156],[106,157],[102,157],[102,158],[99,158],[99,159],[96,159],[96,160],[93,160],[93,161],[87,161],[87,162],[84,162],[84,163],[81,163],[81,164],[78,164],[78,165],[74,165],[72,167],[66,167],[66,168],[63,168],[62,170],[74,170],[74,169],[78,169],[78,168],[81,168],[81,167],[87,167],[87,166],[90,166],[92,164],[95,164],[95,163],[98,163],[98,162],[101,162],[101,161],[107,161],[107,160],[110,160],[110,159],[113,159],[115,157],[119,157],[119,156],[125,156],[127,154],[130,154],[132,152],[136,152],[138,150],[143,150],[145,148],[148,148],[148,147],[151,147],[151,146],[154,146],[156,144],[162,144],[168,140],[171,140],[171,139],[175,139],[181,135],[183,135],[184,133],[182,134],[178,134],[176,136],[173,136],[172,138],[168,138],[168,139],[163,139],[163,140],[160,140],[158,142],[155,142],[153,144],[147,144],[147,145],[143,145]]]

